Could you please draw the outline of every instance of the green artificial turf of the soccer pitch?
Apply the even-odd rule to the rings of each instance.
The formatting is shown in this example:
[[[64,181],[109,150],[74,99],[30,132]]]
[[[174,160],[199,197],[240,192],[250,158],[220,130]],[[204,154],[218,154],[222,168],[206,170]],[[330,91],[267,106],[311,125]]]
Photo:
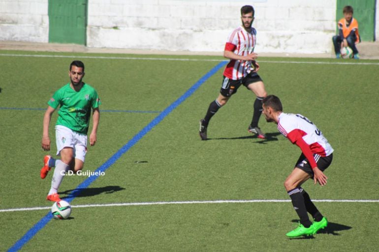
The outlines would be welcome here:
[[[85,81],[98,91],[103,110],[98,142],[89,147],[84,171],[104,164],[223,60],[214,56],[1,54],[64,57],[0,56],[0,108],[8,108],[0,109],[0,209],[52,205],[45,200],[52,175],[39,178],[46,154],[40,147],[42,118],[53,92],[68,82],[73,59],[85,62]],[[309,181],[304,185],[310,196],[378,200],[379,61],[260,60],[259,74],[267,92],[282,99],[285,112],[309,117],[335,149],[332,166],[326,170],[328,184],[321,188]],[[221,75],[222,69],[84,189],[72,201],[69,220],[52,220],[22,251],[377,250],[378,202],[316,202],[329,226],[313,239],[296,240],[284,235],[297,221],[290,202],[75,208],[104,203],[288,199],[283,182],[300,150],[263,118],[260,127],[270,138],[249,135],[254,95],[246,88],[241,87],[212,118],[210,140],[200,141],[198,120],[217,97]],[[57,113],[50,128],[52,155],[56,118]],[[85,179],[65,177],[61,196]],[[0,212],[0,251],[9,249],[47,212]]]

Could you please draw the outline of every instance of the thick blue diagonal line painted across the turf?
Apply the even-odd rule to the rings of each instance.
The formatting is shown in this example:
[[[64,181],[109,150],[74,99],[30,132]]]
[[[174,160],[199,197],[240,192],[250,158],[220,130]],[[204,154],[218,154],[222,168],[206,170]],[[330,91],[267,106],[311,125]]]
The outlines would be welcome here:
[[[214,75],[221,67],[226,65],[227,62],[221,61],[215,67],[213,67],[208,73],[201,77],[195,84],[193,84],[181,97],[179,97],[175,102],[168,106],[164,111],[162,111],[156,118],[154,118],[147,126],[145,126],[139,133],[137,133],[131,140],[129,140],[121,149],[119,149],[112,157],[110,157],[103,165],[95,170],[98,171],[95,174],[100,174],[105,171],[111,165],[113,165],[122,155],[126,153],[134,144],[136,144],[141,138],[143,138],[151,129],[153,129],[160,121],[162,121],[170,112],[177,108],[182,102],[184,102],[189,96],[193,94],[205,81],[207,81],[212,75]],[[73,190],[71,194],[64,198],[67,202],[71,202],[76,196],[78,196],[81,190],[87,188],[94,182],[99,175],[94,175],[88,177],[84,180],[78,187]],[[20,250],[26,243],[28,243],[34,235],[38,233],[49,221],[52,219],[52,215],[48,213],[43,217],[37,224],[35,224],[31,229],[29,229],[26,234],[24,234],[20,240],[18,240],[8,252],[14,252]]]

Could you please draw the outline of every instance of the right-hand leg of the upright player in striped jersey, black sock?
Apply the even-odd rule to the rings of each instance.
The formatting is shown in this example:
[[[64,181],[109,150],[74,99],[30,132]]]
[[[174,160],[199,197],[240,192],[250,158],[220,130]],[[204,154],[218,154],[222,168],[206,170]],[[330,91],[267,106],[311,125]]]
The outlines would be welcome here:
[[[256,96],[254,101],[254,112],[253,119],[248,128],[249,132],[254,133],[260,139],[266,139],[266,135],[258,127],[258,122],[260,115],[262,114],[262,100],[267,96],[266,89],[264,87],[263,81],[257,75],[259,79],[247,85],[247,88],[250,89]]]

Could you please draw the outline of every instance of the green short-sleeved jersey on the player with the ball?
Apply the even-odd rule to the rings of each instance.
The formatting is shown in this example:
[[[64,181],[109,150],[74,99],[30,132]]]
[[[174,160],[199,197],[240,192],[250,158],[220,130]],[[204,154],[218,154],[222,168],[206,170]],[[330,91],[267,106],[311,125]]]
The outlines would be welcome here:
[[[95,88],[84,83],[79,92],[72,89],[70,84],[64,85],[54,93],[47,104],[54,109],[61,106],[57,125],[87,135],[91,108],[98,108],[101,102]]]

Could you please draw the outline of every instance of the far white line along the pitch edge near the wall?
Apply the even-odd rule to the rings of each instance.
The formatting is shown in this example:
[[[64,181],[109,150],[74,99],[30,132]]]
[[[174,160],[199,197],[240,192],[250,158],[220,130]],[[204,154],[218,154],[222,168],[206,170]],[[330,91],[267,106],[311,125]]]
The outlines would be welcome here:
[[[27,54],[0,54],[0,56],[16,57],[58,57],[58,58],[101,58],[101,59],[128,59],[128,60],[176,60],[176,61],[228,61],[221,59],[195,59],[195,58],[151,58],[151,57],[112,57],[112,56],[69,56],[69,55],[27,55]],[[270,61],[258,60],[264,63],[292,63],[292,64],[333,64],[333,65],[379,65],[376,62],[312,62],[312,61]]]

